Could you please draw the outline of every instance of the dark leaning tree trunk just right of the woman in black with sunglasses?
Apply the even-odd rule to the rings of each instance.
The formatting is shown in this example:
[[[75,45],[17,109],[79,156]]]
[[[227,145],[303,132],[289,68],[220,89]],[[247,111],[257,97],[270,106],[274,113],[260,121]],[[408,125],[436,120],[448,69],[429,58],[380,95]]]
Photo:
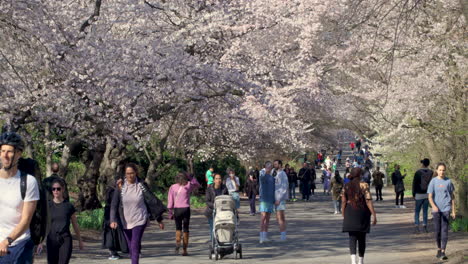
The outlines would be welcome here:
[[[86,171],[78,181],[80,194],[76,204],[78,211],[94,210],[101,208],[97,193],[97,182],[99,179],[99,167],[104,157],[104,146],[98,146],[97,149],[88,154],[85,164]]]

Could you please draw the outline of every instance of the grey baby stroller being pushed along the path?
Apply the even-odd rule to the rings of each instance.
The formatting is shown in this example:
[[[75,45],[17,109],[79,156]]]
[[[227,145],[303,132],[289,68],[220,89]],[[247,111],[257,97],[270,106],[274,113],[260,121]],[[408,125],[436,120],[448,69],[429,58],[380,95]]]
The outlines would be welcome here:
[[[215,260],[235,252],[235,259],[242,258],[242,245],[237,232],[236,204],[230,195],[215,198],[213,210],[213,237],[210,244],[210,259]]]

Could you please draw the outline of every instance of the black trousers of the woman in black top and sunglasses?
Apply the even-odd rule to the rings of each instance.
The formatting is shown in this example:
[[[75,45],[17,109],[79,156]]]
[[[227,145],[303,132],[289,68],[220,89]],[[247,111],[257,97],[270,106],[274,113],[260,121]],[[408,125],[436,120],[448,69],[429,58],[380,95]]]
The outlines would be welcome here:
[[[70,234],[47,236],[47,263],[68,264],[73,250]]]

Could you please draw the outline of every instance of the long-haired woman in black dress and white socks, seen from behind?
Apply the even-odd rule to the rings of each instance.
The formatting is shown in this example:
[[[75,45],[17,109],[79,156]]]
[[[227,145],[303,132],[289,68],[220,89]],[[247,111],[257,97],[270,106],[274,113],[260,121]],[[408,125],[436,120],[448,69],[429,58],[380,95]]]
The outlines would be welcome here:
[[[369,185],[361,182],[361,169],[353,168],[350,174],[350,182],[343,188],[341,196],[341,212],[344,217],[343,232],[349,234],[349,251],[351,263],[356,264],[356,243],[359,245],[359,264],[364,263],[366,252],[366,235],[370,232],[370,220],[372,225],[377,224],[377,214],[372,204]]]

